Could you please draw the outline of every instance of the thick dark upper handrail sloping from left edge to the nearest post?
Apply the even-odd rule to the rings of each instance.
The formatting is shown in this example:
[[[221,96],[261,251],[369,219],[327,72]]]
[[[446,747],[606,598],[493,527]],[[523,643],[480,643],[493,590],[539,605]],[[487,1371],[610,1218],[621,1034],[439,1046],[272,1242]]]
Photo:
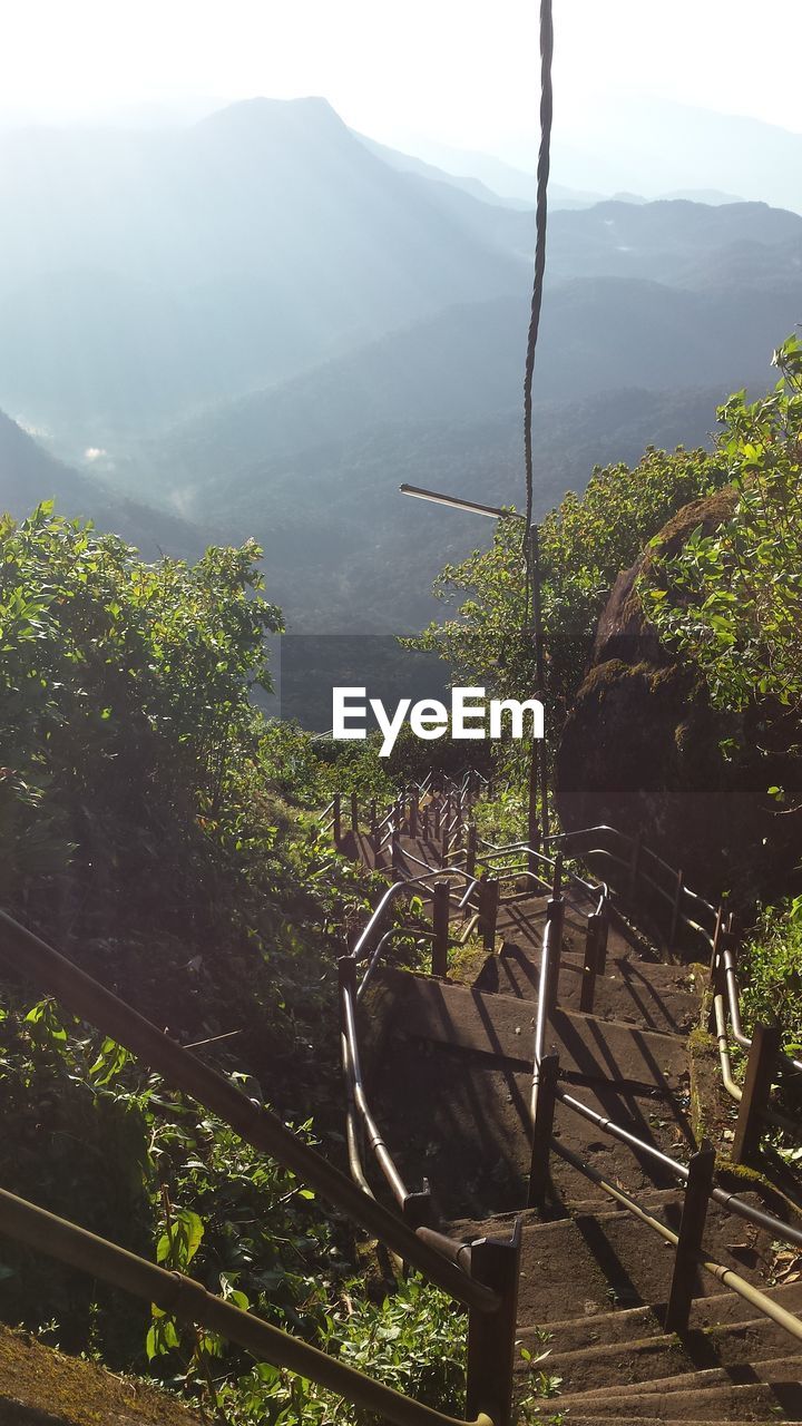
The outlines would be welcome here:
[[[477,1283],[461,1279],[450,1263],[441,1262],[418,1243],[405,1224],[384,1205],[365,1198],[341,1169],[304,1144],[275,1114],[248,1099],[217,1070],[163,1034],[6,911],[0,911],[0,960],[46,995],[59,1000],[78,1020],[96,1025],[104,1035],[138,1055],[171,1088],[217,1114],[253,1148],[278,1159],[334,1208],[385,1242],[405,1262],[420,1268],[458,1302],[479,1308],[484,1303],[484,1310],[494,1310],[495,1302],[488,1302],[485,1289],[479,1292]]]

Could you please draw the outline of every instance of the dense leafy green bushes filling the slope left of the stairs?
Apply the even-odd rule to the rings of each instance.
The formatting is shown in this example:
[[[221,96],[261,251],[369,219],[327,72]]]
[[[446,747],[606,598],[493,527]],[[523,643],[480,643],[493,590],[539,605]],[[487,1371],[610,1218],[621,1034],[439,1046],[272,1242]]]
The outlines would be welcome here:
[[[47,508],[7,519],[0,549],[4,904],[248,1095],[270,1085],[307,1137],[314,1099],[337,1154],[335,957],[368,884],[304,810],[331,776],[310,739],[265,726],[250,699],[270,682],[264,632],[280,625],[255,588],[258,550],[143,565]],[[345,1226],[318,1205],[313,1216],[291,1174],[24,980],[3,987],[0,1057],[6,1188],[191,1266],[333,1350],[360,1359],[385,1340],[387,1375],[411,1389],[431,1370],[402,1350],[414,1282],[355,1312]],[[7,1320],[198,1389],[231,1420],[294,1419],[301,1397],[304,1419],[331,1410],[308,1385],[11,1243],[1,1289]],[[435,1396],[454,1392],[462,1349],[438,1302],[427,1295],[441,1315]]]

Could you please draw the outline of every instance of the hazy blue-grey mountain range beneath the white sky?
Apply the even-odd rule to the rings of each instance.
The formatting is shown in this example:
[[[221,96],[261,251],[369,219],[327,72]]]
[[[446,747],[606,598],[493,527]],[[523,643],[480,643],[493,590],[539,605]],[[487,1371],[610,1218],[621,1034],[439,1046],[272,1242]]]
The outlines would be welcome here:
[[[489,526],[398,483],[522,499],[534,215],[482,183],[324,100],[1,134],[3,503],[56,493],[147,550],[254,535],[293,627],[420,625]],[[709,439],[802,317],[798,212],[592,197],[549,218],[538,513],[595,462]]]

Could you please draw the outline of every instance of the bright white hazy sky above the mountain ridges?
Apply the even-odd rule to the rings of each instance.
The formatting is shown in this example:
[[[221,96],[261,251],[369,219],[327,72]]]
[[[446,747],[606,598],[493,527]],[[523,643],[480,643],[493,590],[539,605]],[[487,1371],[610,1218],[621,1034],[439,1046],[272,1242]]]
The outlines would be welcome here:
[[[802,0],[554,9],[567,134],[587,125],[595,94],[632,91],[802,131]],[[375,137],[519,160],[537,117],[537,0],[0,0],[0,110],[86,117],[324,94]]]

